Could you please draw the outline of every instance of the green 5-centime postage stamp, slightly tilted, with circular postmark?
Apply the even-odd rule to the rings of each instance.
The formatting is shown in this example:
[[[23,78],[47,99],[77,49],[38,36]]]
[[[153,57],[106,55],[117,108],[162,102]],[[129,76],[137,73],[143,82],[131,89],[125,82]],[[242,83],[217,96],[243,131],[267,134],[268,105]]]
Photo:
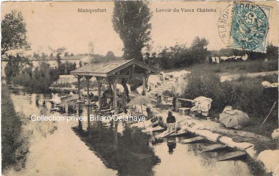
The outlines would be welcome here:
[[[270,8],[235,3],[230,28],[230,48],[266,52]]]

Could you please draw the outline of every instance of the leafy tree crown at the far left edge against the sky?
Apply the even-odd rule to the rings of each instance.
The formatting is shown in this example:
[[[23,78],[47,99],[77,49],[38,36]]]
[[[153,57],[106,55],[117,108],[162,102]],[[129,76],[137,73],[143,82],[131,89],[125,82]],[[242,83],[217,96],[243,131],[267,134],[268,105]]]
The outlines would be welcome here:
[[[26,41],[27,30],[25,26],[26,24],[21,12],[12,10],[11,13],[5,15],[1,21],[1,56],[11,50],[30,49],[30,45]]]

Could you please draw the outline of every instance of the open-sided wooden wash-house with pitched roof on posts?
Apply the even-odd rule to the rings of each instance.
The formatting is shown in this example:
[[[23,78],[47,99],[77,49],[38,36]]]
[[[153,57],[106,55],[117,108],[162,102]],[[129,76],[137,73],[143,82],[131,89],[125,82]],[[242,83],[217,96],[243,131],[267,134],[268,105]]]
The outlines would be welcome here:
[[[83,76],[86,78],[87,82],[87,102],[89,102],[89,80],[95,76],[97,79],[98,85],[98,108],[101,109],[101,81],[102,79],[107,79],[111,89],[113,90],[113,104],[115,109],[115,114],[117,112],[117,89],[116,85],[121,81],[123,87],[126,86],[128,78],[138,78],[143,82],[143,92],[144,95],[147,93],[147,81],[150,74],[158,74],[159,69],[138,61],[136,59],[131,60],[122,60],[122,61],[113,61],[113,62],[105,62],[98,64],[87,64],[82,67],[79,67],[70,72],[70,74],[75,75],[78,78],[78,95],[80,99],[80,80]],[[126,89],[124,89],[125,99],[127,93]]]

